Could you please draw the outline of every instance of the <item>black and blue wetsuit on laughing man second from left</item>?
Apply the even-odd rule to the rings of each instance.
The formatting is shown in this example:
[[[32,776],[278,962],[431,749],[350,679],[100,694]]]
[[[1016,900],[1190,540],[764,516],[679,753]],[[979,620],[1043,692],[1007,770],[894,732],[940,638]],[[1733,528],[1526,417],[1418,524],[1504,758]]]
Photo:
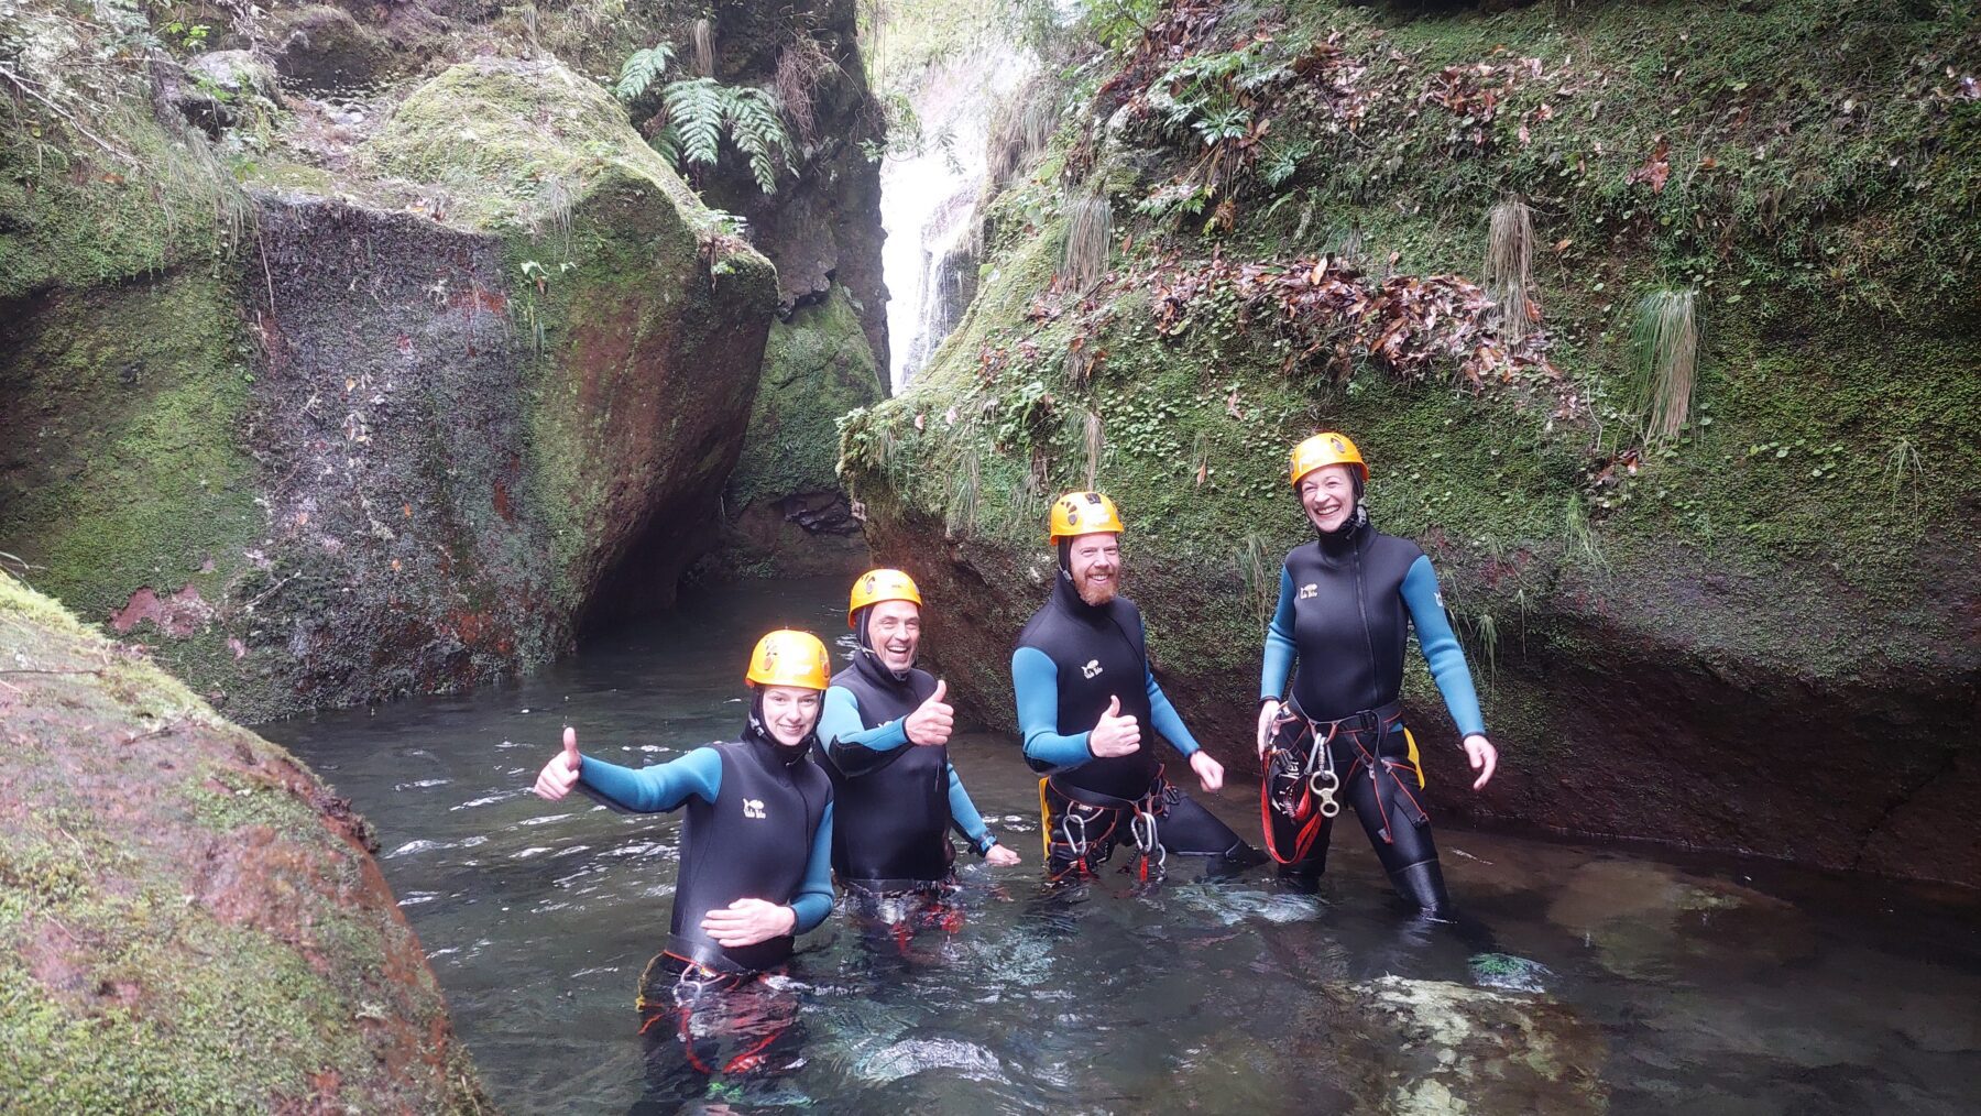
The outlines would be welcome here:
[[[895,678],[864,646],[832,676],[818,757],[832,777],[832,870],[842,884],[876,894],[939,888],[955,860],[949,829],[979,856],[996,844],[949,747],[907,739],[905,718],[933,692],[929,672],[909,668]]]

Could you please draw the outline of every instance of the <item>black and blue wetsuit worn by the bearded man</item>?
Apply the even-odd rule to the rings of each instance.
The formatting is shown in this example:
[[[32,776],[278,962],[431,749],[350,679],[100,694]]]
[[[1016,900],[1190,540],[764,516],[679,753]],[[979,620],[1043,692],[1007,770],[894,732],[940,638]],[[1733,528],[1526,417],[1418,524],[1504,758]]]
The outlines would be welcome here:
[[[1147,838],[1149,823],[1137,817],[1157,819],[1167,852],[1222,856],[1234,864],[1262,860],[1230,827],[1163,777],[1155,735],[1185,757],[1197,751],[1197,739],[1149,670],[1141,611],[1131,601],[1115,597],[1107,605],[1088,605],[1062,567],[1052,599],[1018,634],[1010,680],[1024,759],[1044,775],[1046,872],[1054,880],[1094,872],[1121,842],[1137,844],[1145,866],[1147,856],[1161,856]],[[1101,759],[1088,749],[1088,735],[1115,698],[1121,716],[1141,725],[1143,743],[1129,755]]]

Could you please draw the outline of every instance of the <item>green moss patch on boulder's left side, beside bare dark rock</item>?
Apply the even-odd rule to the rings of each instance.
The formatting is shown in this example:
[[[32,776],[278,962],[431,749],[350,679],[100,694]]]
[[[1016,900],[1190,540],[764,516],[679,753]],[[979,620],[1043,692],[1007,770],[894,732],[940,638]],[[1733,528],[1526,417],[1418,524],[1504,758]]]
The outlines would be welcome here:
[[[63,299],[26,329],[0,371],[0,394],[34,400],[0,420],[0,549],[99,620],[143,587],[222,601],[263,523],[238,448],[252,387],[234,291],[176,272]]]

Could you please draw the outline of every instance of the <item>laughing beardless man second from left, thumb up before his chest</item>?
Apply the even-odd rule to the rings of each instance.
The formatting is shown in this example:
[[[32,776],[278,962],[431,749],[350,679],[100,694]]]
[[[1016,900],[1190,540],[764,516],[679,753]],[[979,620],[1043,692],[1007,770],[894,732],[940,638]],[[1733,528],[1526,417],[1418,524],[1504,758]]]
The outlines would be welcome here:
[[[947,684],[915,670],[921,591],[897,569],[854,581],[846,605],[854,660],[832,676],[818,722],[832,777],[832,870],[864,898],[931,894],[953,882],[949,829],[990,864],[1016,864],[949,763]]]

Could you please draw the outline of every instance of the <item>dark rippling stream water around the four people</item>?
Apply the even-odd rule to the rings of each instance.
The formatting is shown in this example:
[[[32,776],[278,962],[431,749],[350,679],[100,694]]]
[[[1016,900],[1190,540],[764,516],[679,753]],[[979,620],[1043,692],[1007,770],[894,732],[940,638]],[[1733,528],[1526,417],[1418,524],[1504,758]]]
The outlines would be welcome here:
[[[650,1110],[632,1001],[666,934],[679,823],[531,797],[561,727],[634,765],[733,735],[755,636],[844,632],[842,593],[705,593],[513,688],[263,725],[376,825],[386,878],[507,1112]],[[965,854],[963,926],[905,949],[838,916],[804,938],[786,991],[802,1066],[733,1094],[733,1110],[1353,1108],[1371,1094],[1357,1043],[1381,1049],[1387,1033],[1357,1015],[1349,1035],[1315,1005],[1385,975],[1432,993],[1537,985],[1510,993],[1513,1009],[1553,1003],[1545,1027],[1597,1076],[1517,1106],[1480,1084],[1472,1110],[1589,1110],[1591,1096],[1616,1112],[1981,1110],[1973,896],[1440,829],[1452,894],[1484,928],[1458,934],[1395,906],[1353,825],[1337,827],[1319,894],[1266,870],[1199,880],[1177,858],[1157,888],[1109,874],[1046,896],[1016,743],[971,735],[951,751],[1026,864]],[[1256,791],[1210,805],[1256,838]],[[1472,1043],[1458,1066],[1480,1082],[1531,1053]]]

